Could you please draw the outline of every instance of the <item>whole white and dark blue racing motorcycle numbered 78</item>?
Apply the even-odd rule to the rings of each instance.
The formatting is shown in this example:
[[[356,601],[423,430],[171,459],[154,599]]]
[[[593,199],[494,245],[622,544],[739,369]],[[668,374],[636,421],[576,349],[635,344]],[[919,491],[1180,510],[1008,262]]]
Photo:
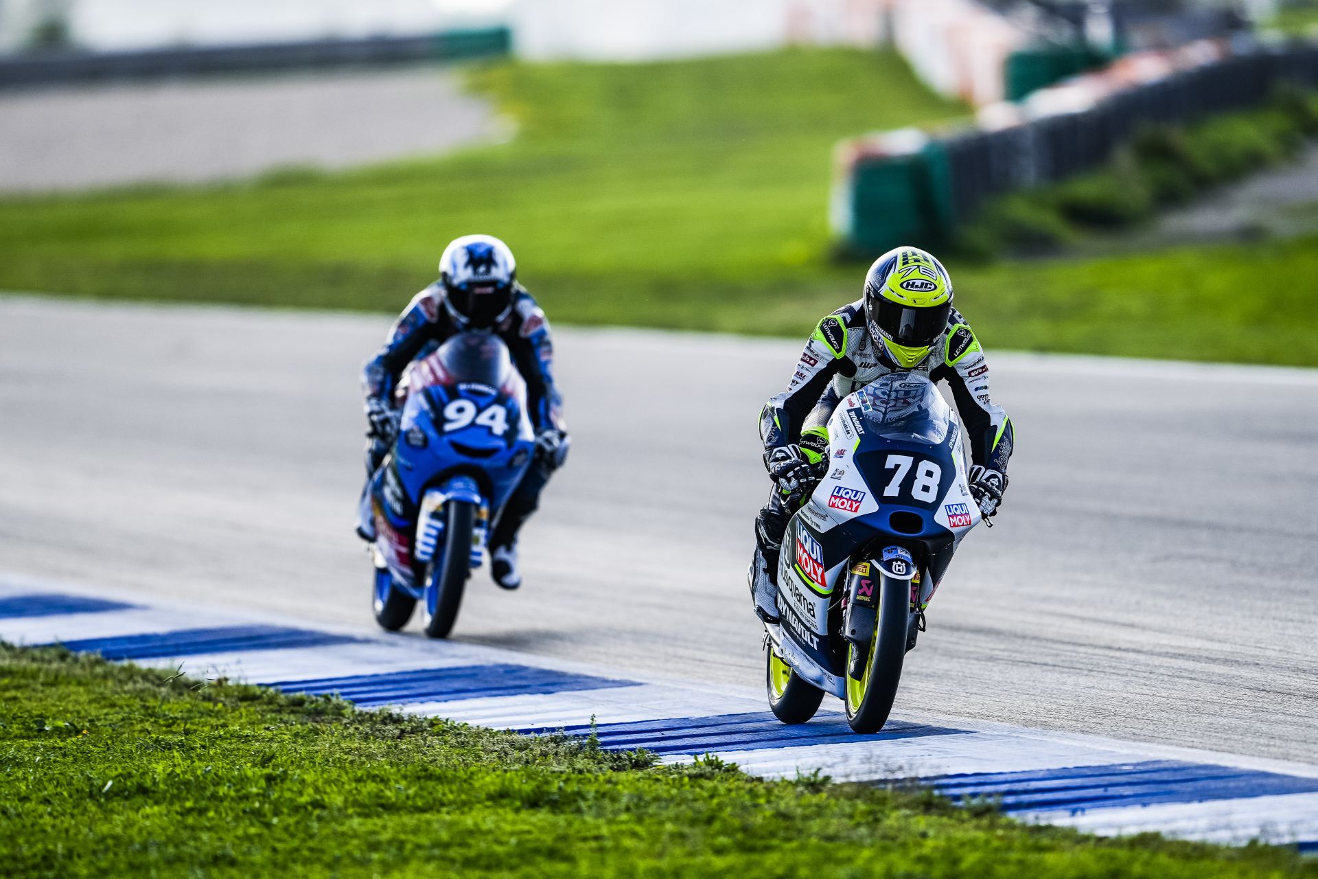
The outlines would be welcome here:
[[[902,663],[961,539],[981,522],[961,427],[933,382],[894,373],[828,423],[829,468],[792,515],[766,625],[774,714],[804,723],[824,693],[857,733],[883,729]]]

